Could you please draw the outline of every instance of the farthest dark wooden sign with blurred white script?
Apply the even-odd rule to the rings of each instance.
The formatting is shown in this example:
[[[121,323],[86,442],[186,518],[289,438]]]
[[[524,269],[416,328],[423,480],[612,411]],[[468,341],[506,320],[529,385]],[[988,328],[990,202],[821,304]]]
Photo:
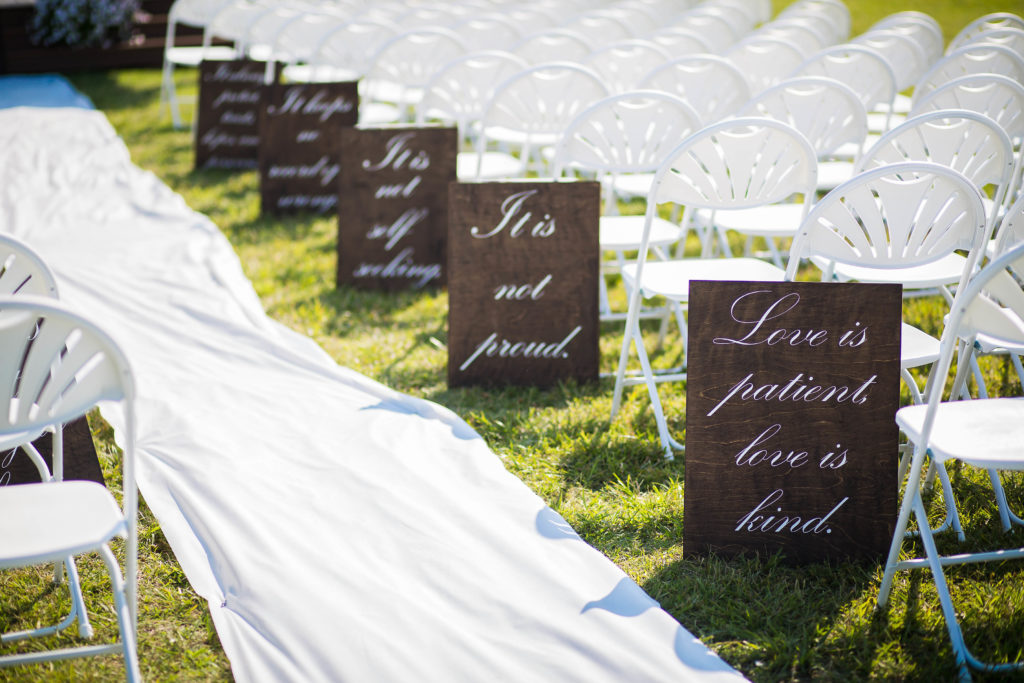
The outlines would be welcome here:
[[[200,63],[196,168],[257,167],[265,69],[252,59]]]

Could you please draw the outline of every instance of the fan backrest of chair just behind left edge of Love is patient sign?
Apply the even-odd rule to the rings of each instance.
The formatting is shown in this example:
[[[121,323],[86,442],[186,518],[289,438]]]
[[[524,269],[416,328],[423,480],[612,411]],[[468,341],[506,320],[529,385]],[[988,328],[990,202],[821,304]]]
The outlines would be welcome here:
[[[648,211],[673,202],[698,209],[743,209],[814,196],[817,158],[801,133],[772,119],[743,117],[696,131],[658,168]]]

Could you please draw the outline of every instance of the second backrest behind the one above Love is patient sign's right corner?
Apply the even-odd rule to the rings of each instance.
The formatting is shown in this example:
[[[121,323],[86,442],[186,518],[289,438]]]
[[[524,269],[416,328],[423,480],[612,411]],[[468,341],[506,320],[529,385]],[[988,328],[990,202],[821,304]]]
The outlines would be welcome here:
[[[996,74],[963,76],[924,97],[914,97],[910,117],[935,110],[968,110],[1002,126],[1011,139],[1024,136],[1024,85]]]

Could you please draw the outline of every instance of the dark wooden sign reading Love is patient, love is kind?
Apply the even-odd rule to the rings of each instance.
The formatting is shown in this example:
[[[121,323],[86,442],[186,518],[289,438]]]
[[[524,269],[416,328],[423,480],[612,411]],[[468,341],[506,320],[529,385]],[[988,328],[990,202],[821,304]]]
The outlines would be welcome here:
[[[901,306],[898,285],[690,284],[686,553],[884,557]]]

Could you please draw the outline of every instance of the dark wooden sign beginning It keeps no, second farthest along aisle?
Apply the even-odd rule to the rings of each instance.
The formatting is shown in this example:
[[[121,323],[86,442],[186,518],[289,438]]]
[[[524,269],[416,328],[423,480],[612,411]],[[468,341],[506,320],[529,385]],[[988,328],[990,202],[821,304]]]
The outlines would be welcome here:
[[[356,83],[267,86],[260,111],[260,209],[338,210],[341,130],[358,120]]]

